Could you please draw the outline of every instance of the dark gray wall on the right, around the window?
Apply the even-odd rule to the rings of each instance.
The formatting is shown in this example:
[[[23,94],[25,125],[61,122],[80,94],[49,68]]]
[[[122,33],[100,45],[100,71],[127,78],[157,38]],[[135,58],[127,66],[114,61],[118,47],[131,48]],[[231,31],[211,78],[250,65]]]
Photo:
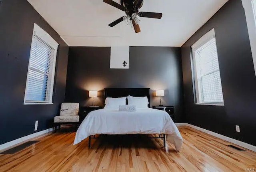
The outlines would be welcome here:
[[[191,46],[215,28],[224,106],[195,105]],[[188,123],[256,146],[256,77],[241,0],[229,0],[182,46]],[[236,132],[240,125],[241,132]]]

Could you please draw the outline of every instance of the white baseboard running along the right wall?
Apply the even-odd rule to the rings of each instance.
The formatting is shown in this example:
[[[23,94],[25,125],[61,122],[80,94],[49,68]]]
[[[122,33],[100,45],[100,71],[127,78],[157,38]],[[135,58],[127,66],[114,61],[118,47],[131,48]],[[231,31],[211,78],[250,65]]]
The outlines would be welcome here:
[[[188,124],[188,123],[176,123],[176,126],[188,126],[188,127],[193,128],[193,129],[205,132],[205,133],[210,134],[212,136],[218,137],[218,138],[220,138],[222,140],[226,140],[228,142],[231,142],[233,144],[236,144],[238,146],[242,146],[242,147],[244,147],[246,149],[249,149],[249,150],[252,150],[252,151],[256,152],[256,146],[253,146],[253,145],[245,143],[245,142],[241,142],[241,141],[236,140],[234,138],[230,138],[230,137],[218,134],[216,132],[212,132],[210,130],[206,130],[206,129],[203,129],[203,128],[200,128],[200,127],[196,127],[196,126]]]

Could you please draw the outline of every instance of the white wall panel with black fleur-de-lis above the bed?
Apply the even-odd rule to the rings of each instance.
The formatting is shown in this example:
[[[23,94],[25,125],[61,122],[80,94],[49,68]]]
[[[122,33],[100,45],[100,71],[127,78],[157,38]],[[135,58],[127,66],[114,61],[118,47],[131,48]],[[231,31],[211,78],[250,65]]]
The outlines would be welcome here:
[[[110,69],[129,69],[129,46],[111,47]]]

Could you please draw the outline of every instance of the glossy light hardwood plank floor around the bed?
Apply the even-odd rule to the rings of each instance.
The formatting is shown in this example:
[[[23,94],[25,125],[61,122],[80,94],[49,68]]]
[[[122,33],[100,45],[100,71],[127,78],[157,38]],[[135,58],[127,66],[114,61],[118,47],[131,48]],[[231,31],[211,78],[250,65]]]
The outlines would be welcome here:
[[[241,152],[219,138],[190,127],[179,127],[182,150],[146,135],[100,136],[72,145],[75,132],[49,134],[17,152],[0,154],[0,172],[244,172],[256,170],[256,152]],[[168,143],[168,142],[167,142]],[[239,147],[239,146],[238,146]],[[240,147],[241,148],[241,147]]]

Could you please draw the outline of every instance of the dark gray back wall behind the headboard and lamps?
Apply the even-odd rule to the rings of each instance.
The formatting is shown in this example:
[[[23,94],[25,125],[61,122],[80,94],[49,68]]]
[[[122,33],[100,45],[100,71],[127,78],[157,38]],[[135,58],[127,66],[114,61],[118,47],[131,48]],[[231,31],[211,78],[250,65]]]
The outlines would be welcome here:
[[[99,90],[96,105],[104,105],[104,88],[151,88],[150,102],[160,104],[154,90],[164,89],[164,105],[174,105],[182,119],[182,67],[179,47],[130,47],[130,69],[110,69],[110,47],[70,47],[66,102],[91,105],[89,90]]]

